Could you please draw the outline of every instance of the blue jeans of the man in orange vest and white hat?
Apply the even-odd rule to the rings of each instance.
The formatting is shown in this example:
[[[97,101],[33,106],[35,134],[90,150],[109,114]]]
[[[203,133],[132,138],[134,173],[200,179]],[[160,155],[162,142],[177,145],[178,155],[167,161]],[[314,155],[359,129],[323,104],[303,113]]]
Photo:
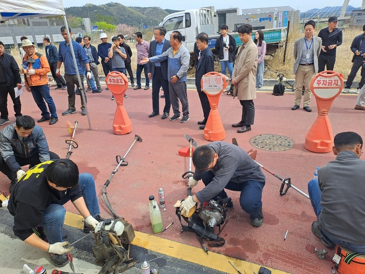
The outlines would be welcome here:
[[[57,118],[56,105],[54,104],[52,96],[49,92],[48,85],[32,86],[30,87],[30,91],[33,95],[35,104],[37,104],[38,108],[42,111],[42,116],[49,118],[51,115],[51,117]],[[45,101],[48,105],[49,112]]]

